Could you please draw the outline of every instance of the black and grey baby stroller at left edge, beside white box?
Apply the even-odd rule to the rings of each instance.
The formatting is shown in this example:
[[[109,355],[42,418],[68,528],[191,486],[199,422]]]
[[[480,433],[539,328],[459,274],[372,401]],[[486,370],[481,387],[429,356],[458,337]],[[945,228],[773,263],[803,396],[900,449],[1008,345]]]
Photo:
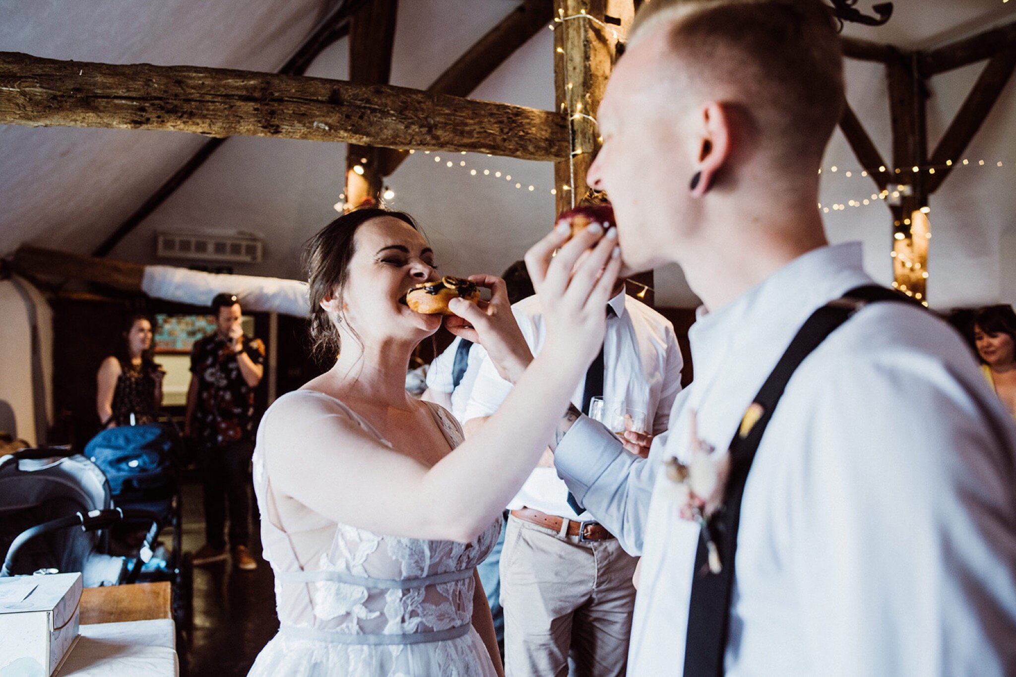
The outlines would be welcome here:
[[[109,528],[150,525],[139,552],[109,554]],[[85,587],[132,583],[151,553],[158,516],[112,504],[102,471],[67,448],[25,449],[0,459],[0,577],[37,570],[80,571]]]

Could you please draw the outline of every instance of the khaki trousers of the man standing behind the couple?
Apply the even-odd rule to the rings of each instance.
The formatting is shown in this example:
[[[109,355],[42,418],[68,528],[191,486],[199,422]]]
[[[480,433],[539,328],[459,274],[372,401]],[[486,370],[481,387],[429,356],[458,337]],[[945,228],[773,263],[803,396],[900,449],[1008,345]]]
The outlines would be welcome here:
[[[624,675],[636,558],[509,516],[501,553],[506,677]],[[567,527],[564,530],[566,531]]]

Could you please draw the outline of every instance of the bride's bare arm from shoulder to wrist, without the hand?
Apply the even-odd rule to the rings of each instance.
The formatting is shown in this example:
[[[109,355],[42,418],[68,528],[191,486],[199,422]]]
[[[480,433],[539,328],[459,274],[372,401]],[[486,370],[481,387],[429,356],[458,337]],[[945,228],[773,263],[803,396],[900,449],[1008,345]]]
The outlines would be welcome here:
[[[272,489],[341,524],[467,543],[535,466],[581,369],[571,370],[537,356],[501,410],[431,468],[385,446],[325,398],[280,399],[261,423]]]

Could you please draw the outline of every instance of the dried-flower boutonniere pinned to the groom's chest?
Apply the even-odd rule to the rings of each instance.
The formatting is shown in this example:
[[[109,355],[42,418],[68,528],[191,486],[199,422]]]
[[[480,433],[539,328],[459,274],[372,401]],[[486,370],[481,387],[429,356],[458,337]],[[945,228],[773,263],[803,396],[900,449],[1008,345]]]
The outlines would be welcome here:
[[[719,559],[719,549],[713,542],[709,532],[709,519],[723,504],[723,492],[726,479],[731,474],[731,453],[717,452],[716,449],[698,436],[698,426],[695,412],[691,412],[691,459],[688,464],[681,463],[675,457],[666,459],[663,464],[668,478],[676,484],[681,518],[698,524],[702,530],[708,551],[709,570],[719,573],[722,562]]]

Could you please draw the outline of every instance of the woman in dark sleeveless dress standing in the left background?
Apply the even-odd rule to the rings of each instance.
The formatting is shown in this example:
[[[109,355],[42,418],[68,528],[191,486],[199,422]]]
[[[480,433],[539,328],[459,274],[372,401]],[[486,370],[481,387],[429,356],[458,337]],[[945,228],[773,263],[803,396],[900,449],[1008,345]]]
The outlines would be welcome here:
[[[135,315],[123,336],[120,350],[103,360],[97,377],[96,408],[103,429],[150,423],[163,404],[166,371],[152,359],[151,322]]]

